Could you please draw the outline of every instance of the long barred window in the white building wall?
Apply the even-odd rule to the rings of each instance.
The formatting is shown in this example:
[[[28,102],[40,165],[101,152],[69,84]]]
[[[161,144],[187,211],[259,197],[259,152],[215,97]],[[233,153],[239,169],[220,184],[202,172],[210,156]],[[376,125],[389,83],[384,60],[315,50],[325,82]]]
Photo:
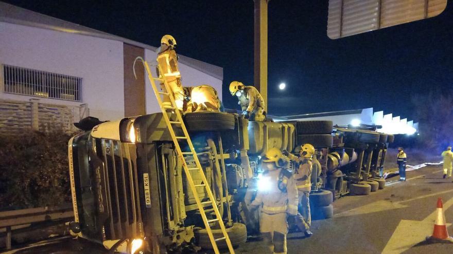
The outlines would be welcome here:
[[[82,78],[16,66],[3,66],[5,92],[82,101]]]

